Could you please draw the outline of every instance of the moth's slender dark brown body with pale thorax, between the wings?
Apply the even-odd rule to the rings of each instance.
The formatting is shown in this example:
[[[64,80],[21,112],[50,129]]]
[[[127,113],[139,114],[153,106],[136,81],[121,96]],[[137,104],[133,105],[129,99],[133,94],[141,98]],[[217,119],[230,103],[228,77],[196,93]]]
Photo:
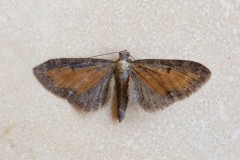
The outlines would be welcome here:
[[[115,78],[117,85],[118,119],[121,122],[125,118],[128,103],[129,69],[127,61],[120,60],[117,62]]]

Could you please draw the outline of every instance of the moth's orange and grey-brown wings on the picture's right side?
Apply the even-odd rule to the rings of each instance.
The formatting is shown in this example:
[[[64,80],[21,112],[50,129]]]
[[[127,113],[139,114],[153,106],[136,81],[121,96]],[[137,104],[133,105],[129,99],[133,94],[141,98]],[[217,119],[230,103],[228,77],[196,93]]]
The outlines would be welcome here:
[[[144,109],[164,108],[191,95],[211,76],[200,63],[146,59],[131,62],[136,102]]]

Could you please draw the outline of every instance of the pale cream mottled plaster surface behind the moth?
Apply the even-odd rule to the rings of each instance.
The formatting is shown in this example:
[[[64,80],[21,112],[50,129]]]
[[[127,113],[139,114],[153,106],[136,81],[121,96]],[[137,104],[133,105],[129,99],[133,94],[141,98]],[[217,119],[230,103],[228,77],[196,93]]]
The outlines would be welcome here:
[[[163,111],[131,103],[119,124],[111,103],[79,112],[32,73],[50,58],[123,49],[198,61],[212,78]],[[0,93],[1,160],[239,160],[240,1],[1,0]]]

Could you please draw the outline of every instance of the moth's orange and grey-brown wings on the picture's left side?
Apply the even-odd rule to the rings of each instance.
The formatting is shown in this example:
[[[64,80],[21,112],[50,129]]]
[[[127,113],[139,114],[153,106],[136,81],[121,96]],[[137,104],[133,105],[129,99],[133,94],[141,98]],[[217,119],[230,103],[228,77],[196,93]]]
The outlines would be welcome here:
[[[93,58],[51,59],[33,68],[40,83],[84,110],[97,109],[107,97],[114,62]]]

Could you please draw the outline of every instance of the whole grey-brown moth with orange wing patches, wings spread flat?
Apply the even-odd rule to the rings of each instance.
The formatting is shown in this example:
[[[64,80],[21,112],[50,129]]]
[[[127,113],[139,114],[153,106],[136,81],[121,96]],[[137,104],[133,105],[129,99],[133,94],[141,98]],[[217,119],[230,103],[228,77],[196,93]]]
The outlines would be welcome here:
[[[109,82],[115,78],[117,115],[125,118],[129,94],[145,110],[163,109],[184,99],[211,76],[204,65],[188,60],[133,60],[126,50],[116,61],[98,58],[50,59],[33,68],[39,82],[82,110],[104,106]],[[129,82],[133,90],[129,90]]]

